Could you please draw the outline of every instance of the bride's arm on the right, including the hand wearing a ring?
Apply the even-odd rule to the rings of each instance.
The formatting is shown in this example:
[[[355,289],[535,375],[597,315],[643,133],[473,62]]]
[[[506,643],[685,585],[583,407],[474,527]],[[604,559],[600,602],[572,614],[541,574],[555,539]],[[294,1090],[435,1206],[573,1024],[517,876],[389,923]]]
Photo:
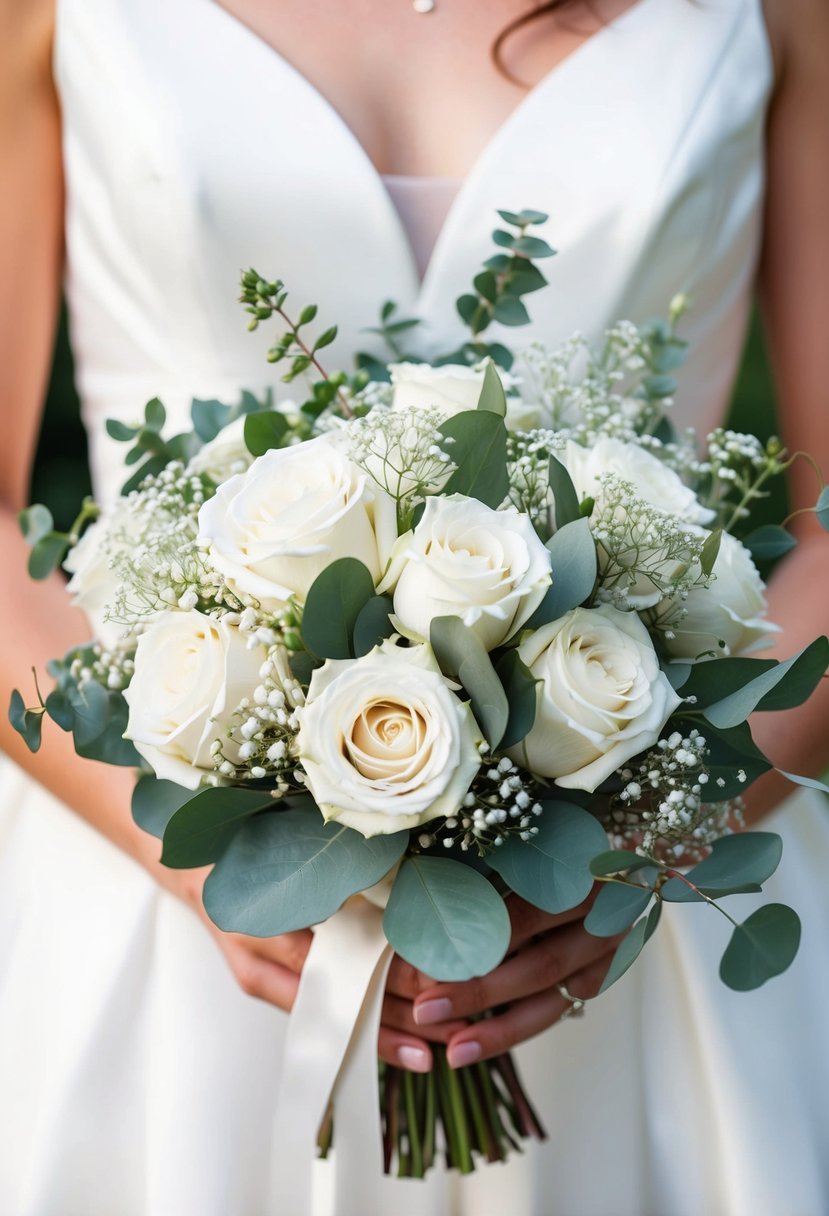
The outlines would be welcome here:
[[[766,7],[778,85],[767,141],[763,316],[784,443],[791,451],[810,452],[829,477],[829,5],[767,0]],[[818,489],[813,471],[799,461],[791,471],[793,506],[813,506]],[[829,632],[829,539],[811,516],[800,517],[794,530],[800,545],[769,587],[769,618],[783,626],[780,657]],[[816,776],[829,765],[827,720],[829,680],[800,709],[756,715],[752,732],[780,769]],[[777,773],[765,777],[750,790],[748,818],[756,822],[793,789]],[[583,916],[583,910],[576,912]],[[556,987],[559,980],[577,996],[596,993],[609,956],[597,958],[596,939],[580,918],[553,931],[551,919],[515,901],[518,948],[506,963],[483,980],[435,985],[417,996],[421,1025],[512,1002],[507,1013],[452,1037],[452,1063],[498,1054],[557,1021],[568,1009]],[[543,929],[548,931],[536,938]]]

